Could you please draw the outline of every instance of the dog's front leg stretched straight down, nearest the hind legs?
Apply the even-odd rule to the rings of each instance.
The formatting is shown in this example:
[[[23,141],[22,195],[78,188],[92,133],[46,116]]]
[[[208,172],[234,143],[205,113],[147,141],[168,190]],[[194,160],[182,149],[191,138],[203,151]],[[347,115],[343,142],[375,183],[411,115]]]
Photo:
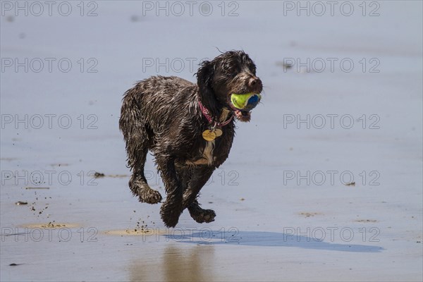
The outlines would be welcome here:
[[[166,201],[160,209],[161,219],[167,227],[175,227],[183,211],[183,188],[172,158],[157,159],[157,164],[167,194]]]

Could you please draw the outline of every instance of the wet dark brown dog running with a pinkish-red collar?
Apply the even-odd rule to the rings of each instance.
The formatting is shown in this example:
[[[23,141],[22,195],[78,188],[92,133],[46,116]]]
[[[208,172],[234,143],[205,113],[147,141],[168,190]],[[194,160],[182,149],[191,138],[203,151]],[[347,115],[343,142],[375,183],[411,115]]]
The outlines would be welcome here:
[[[244,51],[228,51],[202,62],[197,85],[174,76],[154,76],[125,92],[119,128],[133,170],[129,187],[140,202],[161,202],[144,175],[150,150],[167,194],[160,211],[166,226],[176,226],[185,208],[199,223],[214,221],[214,211],[197,202],[198,192],[228,158],[233,116],[250,121],[250,111],[235,108],[231,94],[260,92],[255,63]]]

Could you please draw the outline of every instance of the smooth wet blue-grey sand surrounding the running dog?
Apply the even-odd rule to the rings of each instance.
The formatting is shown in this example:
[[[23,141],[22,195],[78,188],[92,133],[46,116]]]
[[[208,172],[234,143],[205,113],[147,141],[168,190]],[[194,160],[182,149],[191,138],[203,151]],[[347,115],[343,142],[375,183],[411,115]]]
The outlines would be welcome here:
[[[93,18],[0,19],[2,58],[74,63],[68,73],[1,73],[2,121],[56,115],[52,128],[44,116],[40,129],[1,129],[1,281],[422,281],[420,2],[381,2],[373,18],[282,17],[276,1],[241,1],[233,18],[142,17],[140,2],[98,4]],[[202,189],[216,221],[185,211],[168,229],[160,205],[128,188],[121,97],[159,74],[143,71],[143,58],[200,59],[214,47],[252,56],[262,104],[237,124],[228,161]],[[81,73],[78,59],[91,57],[98,73]],[[356,67],[284,71],[281,61],[298,57]],[[380,72],[363,72],[362,58],[379,59]],[[195,70],[163,70],[195,81]],[[69,128],[57,124],[64,114]],[[328,114],[338,115],[333,128]],[[309,128],[288,123],[307,115]],[[352,128],[340,125],[344,115]],[[146,171],[164,195],[151,156]]]

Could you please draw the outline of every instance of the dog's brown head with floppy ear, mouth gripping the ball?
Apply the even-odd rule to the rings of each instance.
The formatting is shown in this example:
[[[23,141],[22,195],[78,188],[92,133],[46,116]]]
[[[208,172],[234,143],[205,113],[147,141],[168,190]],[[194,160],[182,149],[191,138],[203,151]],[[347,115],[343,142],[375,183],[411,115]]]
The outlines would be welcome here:
[[[255,63],[244,51],[227,51],[212,61],[203,61],[197,72],[200,98],[215,99],[217,104],[231,109],[240,121],[250,121],[249,110],[237,109],[232,94],[260,94],[262,80],[256,76]]]

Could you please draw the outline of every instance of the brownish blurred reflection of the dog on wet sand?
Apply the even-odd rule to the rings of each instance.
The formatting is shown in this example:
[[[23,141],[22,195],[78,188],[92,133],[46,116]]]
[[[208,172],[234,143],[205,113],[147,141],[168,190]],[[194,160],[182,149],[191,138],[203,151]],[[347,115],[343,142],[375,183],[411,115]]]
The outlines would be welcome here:
[[[140,254],[142,250],[140,251]],[[148,259],[140,255],[129,267],[130,281],[214,281],[214,246],[168,245]]]

